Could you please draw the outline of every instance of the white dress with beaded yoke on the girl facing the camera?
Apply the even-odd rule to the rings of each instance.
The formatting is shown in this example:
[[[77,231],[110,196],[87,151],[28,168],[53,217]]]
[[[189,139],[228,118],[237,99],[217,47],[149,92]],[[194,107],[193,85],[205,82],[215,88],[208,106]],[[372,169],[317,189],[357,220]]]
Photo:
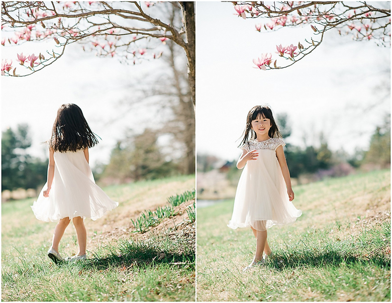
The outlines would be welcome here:
[[[302,215],[289,201],[282,171],[276,157],[278,146],[284,142],[270,138],[250,140],[241,148],[256,149],[256,160],[247,161],[237,186],[234,210],[228,227],[253,227],[265,231],[273,225],[291,224]]]

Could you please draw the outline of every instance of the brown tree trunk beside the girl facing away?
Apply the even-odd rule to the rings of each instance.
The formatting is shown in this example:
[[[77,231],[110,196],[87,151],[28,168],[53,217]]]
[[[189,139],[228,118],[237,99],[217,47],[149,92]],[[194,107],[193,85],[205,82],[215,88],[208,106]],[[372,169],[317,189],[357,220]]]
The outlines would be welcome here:
[[[194,23],[194,2],[181,2],[186,34],[186,57],[188,58],[188,79],[193,110],[196,105],[196,28]]]

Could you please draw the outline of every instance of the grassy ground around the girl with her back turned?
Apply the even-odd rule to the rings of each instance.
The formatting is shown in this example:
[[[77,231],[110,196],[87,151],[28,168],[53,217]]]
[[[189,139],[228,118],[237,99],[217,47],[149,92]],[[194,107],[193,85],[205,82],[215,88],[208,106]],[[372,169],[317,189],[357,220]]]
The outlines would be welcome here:
[[[195,224],[188,218],[193,201],[174,207],[174,217],[146,233],[135,232],[131,222],[145,210],[169,206],[168,197],[194,184],[194,176],[179,176],[104,188],[119,207],[96,221],[85,220],[88,259],[61,266],[46,254],[56,223],[34,217],[34,199],[3,204],[2,300],[194,301]],[[59,251],[77,253],[72,224]]]

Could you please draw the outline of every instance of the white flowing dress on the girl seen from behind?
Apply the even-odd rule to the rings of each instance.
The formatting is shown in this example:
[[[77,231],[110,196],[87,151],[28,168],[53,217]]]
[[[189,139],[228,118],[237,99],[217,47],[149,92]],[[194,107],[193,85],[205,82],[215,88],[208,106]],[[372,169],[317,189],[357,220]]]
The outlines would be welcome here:
[[[65,217],[96,220],[119,205],[95,184],[82,150],[54,152],[53,156],[55,167],[49,197],[44,197],[46,183],[31,207],[38,220],[56,222]]]

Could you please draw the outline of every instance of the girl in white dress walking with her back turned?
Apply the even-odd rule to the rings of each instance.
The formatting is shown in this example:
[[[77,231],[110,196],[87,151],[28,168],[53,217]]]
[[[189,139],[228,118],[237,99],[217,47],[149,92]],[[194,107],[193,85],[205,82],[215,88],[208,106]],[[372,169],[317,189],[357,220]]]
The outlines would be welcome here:
[[[86,258],[86,229],[84,218],[96,220],[118,202],[95,184],[88,165],[88,148],[98,143],[83,113],[77,105],[64,104],[57,111],[49,145],[48,181],[34,201],[38,220],[58,222],[54,229],[48,256],[56,264],[64,261],[58,245],[72,219],[76,229],[79,252],[71,260]]]

